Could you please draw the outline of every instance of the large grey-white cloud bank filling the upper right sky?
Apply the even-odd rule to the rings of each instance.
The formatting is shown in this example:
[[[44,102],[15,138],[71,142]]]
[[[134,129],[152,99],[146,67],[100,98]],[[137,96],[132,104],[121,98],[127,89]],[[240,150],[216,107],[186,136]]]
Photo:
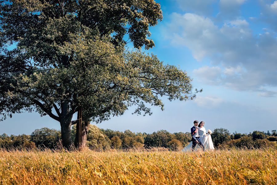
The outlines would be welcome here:
[[[211,61],[211,67],[193,71],[196,80],[239,91],[277,87],[277,39],[270,30],[257,37],[246,20],[234,19],[218,27],[211,19],[191,13],[173,13],[166,30],[173,45],[189,48],[198,61]]]

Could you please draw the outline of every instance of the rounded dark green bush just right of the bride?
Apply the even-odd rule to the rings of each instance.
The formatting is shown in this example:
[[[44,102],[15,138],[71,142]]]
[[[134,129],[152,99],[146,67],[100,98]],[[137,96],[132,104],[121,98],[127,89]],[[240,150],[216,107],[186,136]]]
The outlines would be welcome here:
[[[231,140],[231,134],[227,129],[215,129],[211,134],[214,146],[217,147],[224,142]]]

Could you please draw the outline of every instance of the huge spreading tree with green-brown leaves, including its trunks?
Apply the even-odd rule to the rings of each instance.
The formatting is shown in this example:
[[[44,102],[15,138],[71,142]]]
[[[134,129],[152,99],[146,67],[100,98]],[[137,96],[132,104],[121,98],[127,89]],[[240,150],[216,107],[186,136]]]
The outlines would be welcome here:
[[[76,137],[75,144],[84,146],[91,120],[122,115],[132,105],[134,113],[151,114],[145,103],[163,109],[163,95],[195,97],[186,72],[155,55],[125,50],[128,41],[136,48],[154,46],[148,27],[162,19],[154,0],[0,3],[2,120],[26,110],[49,115],[60,122],[62,143],[69,148],[71,125],[79,121],[71,120],[80,109],[82,139]]]

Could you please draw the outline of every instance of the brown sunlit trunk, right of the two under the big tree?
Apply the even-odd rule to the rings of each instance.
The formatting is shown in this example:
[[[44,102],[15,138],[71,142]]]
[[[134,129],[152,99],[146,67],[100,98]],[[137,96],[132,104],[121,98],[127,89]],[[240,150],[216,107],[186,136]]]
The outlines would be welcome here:
[[[89,131],[90,122],[89,121],[82,121],[82,129],[81,129],[81,135],[80,135],[80,125],[77,123],[76,125],[76,137],[74,145],[78,149],[82,149],[86,146],[86,139],[87,134]]]

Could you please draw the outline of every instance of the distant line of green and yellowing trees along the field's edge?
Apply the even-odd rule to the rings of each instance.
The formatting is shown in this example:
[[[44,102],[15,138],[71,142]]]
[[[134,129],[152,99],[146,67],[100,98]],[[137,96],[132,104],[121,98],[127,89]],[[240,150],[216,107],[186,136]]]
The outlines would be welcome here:
[[[72,139],[74,141],[76,126],[72,127]],[[233,133],[227,129],[218,128],[211,134],[215,148],[277,148],[276,130],[271,132],[254,131],[249,134]],[[31,135],[0,135],[0,148],[59,148],[61,147],[61,132],[55,129],[36,129]],[[90,125],[87,147],[94,150],[106,149],[128,149],[128,148],[151,148],[164,147],[169,150],[180,150],[191,141],[191,133],[176,132],[170,133],[166,130],[159,130],[152,134],[134,133],[130,130],[124,132],[110,129],[99,129]]]

